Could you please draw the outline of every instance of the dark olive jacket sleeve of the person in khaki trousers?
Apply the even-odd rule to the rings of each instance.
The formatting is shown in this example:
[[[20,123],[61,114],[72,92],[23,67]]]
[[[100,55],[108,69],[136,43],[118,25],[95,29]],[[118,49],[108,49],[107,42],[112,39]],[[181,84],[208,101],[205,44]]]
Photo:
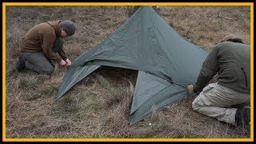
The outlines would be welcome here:
[[[215,46],[206,57],[202,64],[202,69],[198,74],[198,79],[194,85],[194,92],[201,92],[203,87],[214,77],[218,72],[218,46]]]

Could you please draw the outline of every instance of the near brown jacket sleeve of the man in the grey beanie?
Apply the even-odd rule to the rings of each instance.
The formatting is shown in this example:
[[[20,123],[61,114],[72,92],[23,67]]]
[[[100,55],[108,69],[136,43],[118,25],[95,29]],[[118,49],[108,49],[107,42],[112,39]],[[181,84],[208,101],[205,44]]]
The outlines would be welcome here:
[[[52,50],[54,46],[54,36],[51,34],[42,34],[42,52],[46,54],[46,57],[50,58],[55,62],[60,62],[61,58],[58,58],[57,54]]]

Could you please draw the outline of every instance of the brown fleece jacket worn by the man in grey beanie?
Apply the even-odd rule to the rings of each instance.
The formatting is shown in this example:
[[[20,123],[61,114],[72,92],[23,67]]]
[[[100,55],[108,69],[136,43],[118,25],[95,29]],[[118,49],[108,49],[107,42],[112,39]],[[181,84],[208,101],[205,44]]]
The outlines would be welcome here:
[[[61,21],[44,22],[32,27],[23,38],[20,49],[22,52],[38,52],[42,51],[46,57],[55,62],[66,60],[64,50],[59,50],[57,56],[52,50],[56,37],[61,34],[59,23]]]

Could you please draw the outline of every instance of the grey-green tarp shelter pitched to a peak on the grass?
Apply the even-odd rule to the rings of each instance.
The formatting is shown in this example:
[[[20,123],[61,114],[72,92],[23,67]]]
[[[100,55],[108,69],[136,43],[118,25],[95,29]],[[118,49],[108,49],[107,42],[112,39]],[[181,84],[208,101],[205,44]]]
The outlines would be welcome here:
[[[207,54],[178,34],[151,6],[140,6],[114,34],[74,60],[56,98],[100,66],[138,70],[129,119],[134,124],[152,110],[186,98],[186,86],[196,81]]]

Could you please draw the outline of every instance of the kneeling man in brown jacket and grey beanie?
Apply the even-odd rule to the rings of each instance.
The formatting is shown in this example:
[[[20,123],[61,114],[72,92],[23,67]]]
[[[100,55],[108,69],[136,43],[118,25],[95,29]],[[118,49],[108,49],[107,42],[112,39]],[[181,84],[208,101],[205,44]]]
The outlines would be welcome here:
[[[18,58],[17,70],[52,74],[55,67],[52,61],[60,66],[70,66],[71,62],[62,49],[63,38],[73,35],[75,30],[74,23],[69,20],[43,22],[32,27],[22,39],[22,54]]]

